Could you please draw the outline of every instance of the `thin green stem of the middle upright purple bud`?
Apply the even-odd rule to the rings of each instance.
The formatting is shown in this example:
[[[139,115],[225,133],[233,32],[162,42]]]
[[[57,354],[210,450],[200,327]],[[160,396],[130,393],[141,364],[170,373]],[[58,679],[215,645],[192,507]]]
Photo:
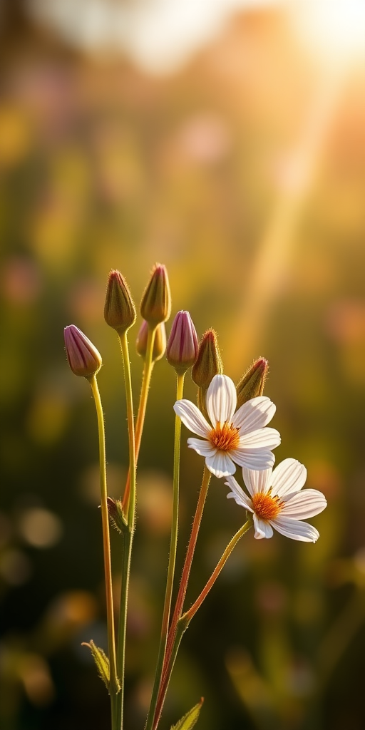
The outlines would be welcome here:
[[[177,373],[177,400],[183,398],[185,373]],[[169,566],[167,569],[166,592],[164,600],[164,612],[162,615],[160,646],[158,648],[158,658],[155,670],[155,682],[153,684],[153,692],[150,702],[150,710],[148,711],[145,730],[151,730],[155,718],[155,707],[158,699],[158,691],[160,688],[162,671],[164,668],[164,659],[166,653],[167,634],[169,631],[169,618],[172,600],[172,589],[174,586],[174,570],[177,553],[177,531],[179,525],[179,481],[180,481],[180,434],[181,419],[175,416],[175,434],[174,434],[174,477],[173,477],[173,502],[172,502],[172,526],[170,539]]]

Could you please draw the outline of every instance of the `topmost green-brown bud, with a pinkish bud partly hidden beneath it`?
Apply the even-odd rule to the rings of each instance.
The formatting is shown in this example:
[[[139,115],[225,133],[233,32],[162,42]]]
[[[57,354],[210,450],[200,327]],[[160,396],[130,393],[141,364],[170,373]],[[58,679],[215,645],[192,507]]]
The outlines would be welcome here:
[[[166,322],[171,313],[169,277],[163,264],[155,264],[141,301],[141,315],[150,326]]]

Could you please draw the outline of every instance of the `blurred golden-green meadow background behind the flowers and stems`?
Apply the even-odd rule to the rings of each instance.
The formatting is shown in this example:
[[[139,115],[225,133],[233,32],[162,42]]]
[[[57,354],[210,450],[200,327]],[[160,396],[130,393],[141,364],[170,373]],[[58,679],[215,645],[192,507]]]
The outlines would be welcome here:
[[[365,21],[356,0],[345,12],[318,0],[323,18],[296,0],[241,0],[226,15],[218,5],[201,4],[201,27],[214,28],[185,50],[199,3],[191,26],[170,4],[180,45],[156,9],[150,50],[137,21],[112,42],[113,16],[107,27],[96,7],[118,3],[1,5],[1,730],[109,726],[81,647],[106,643],[96,416],[63,328],[82,328],[103,356],[118,496],[126,408],[104,291],[118,268],[138,304],[155,261],[168,267],[173,315],[187,309],[199,335],[218,331],[226,374],[269,359],[277,461],[298,458],[328,499],[316,545],[242,539],[185,634],[161,730],[200,696],[201,730],[365,726]],[[180,56],[164,55],[168,40]],[[137,326],[137,401],[135,337]],[[128,730],[143,727],[153,680],[174,387],[159,362],[139,460]],[[189,377],[185,393],[195,398]],[[203,466],[187,436],[180,564]],[[188,602],[244,519],[226,491],[212,479]],[[113,548],[118,583],[116,534]]]

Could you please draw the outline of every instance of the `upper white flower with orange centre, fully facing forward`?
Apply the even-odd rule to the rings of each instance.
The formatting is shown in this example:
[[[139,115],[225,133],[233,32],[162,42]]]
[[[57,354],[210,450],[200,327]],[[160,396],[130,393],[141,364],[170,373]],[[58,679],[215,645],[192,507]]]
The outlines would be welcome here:
[[[248,469],[267,469],[274,464],[271,449],[280,444],[280,434],[266,429],[276,407],[269,398],[258,396],[244,403],[236,412],[237,393],[227,375],[215,375],[207,390],[207,422],[199,408],[182,399],[174,404],[189,431],[202,439],[188,439],[188,445],[205,457],[207,468],[216,477],[236,471],[235,464]]]

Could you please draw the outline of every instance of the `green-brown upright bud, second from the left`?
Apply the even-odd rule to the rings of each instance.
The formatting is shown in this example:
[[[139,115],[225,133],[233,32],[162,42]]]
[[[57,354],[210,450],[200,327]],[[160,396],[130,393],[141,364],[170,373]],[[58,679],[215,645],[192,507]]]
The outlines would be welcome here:
[[[136,321],[136,307],[126,280],[114,270],[109,274],[104,319],[119,334],[126,332]]]

